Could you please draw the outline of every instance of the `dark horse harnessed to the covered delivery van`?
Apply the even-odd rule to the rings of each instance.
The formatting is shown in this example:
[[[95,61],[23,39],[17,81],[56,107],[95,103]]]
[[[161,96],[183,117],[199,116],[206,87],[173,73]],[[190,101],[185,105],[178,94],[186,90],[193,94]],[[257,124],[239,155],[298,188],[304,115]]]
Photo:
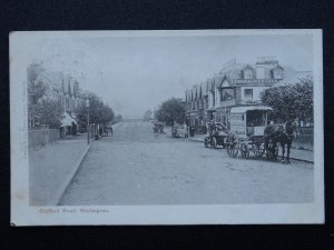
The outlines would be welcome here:
[[[282,147],[282,161],[289,163],[289,150],[292,142],[298,133],[298,126],[295,120],[289,120],[281,124],[268,124],[264,130],[264,143],[267,152],[267,159],[276,160],[278,148],[277,143]],[[285,146],[287,148],[286,159]]]

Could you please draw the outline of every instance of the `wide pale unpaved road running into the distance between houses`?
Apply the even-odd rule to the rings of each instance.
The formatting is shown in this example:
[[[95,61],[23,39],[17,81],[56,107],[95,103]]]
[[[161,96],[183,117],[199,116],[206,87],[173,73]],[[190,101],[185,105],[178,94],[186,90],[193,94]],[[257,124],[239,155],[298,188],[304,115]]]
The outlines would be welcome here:
[[[234,159],[134,121],[92,142],[60,204],[312,202],[313,183],[311,163]]]

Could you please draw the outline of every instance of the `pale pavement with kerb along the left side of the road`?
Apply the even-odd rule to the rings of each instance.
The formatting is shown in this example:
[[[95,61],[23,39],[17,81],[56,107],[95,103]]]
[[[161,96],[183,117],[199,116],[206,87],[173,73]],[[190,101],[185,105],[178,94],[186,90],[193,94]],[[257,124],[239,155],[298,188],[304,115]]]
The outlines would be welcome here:
[[[29,152],[31,206],[56,206],[87,154],[87,134],[78,134]]]

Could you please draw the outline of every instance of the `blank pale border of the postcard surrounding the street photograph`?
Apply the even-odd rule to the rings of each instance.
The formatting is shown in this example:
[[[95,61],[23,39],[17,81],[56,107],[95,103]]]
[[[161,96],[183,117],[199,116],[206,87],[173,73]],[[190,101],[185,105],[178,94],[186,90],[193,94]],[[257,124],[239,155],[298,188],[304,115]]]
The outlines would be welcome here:
[[[52,224],[264,224],[324,222],[324,131],[322,30],[195,30],[195,31],[38,31],[43,36],[232,36],[312,34],[314,40],[314,202],[289,204],[89,206],[30,207],[24,61],[29,50],[14,47],[10,34],[11,223]],[[28,57],[29,58],[29,57]],[[26,72],[24,72],[26,71]],[[85,212],[82,212],[86,209]]]

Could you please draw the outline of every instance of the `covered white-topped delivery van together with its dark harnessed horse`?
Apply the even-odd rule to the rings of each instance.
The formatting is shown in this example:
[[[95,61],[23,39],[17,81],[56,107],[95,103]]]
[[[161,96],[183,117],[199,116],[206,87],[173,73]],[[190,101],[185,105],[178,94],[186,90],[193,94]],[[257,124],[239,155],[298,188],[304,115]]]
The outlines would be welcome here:
[[[284,124],[268,124],[267,114],[271,107],[247,106],[230,109],[230,131],[227,136],[227,153],[235,158],[240,151],[242,157],[249,158],[250,152],[255,158],[266,154],[268,159],[276,159],[278,144],[282,146],[283,158],[287,144],[287,161],[293,134],[297,130],[295,121]]]

